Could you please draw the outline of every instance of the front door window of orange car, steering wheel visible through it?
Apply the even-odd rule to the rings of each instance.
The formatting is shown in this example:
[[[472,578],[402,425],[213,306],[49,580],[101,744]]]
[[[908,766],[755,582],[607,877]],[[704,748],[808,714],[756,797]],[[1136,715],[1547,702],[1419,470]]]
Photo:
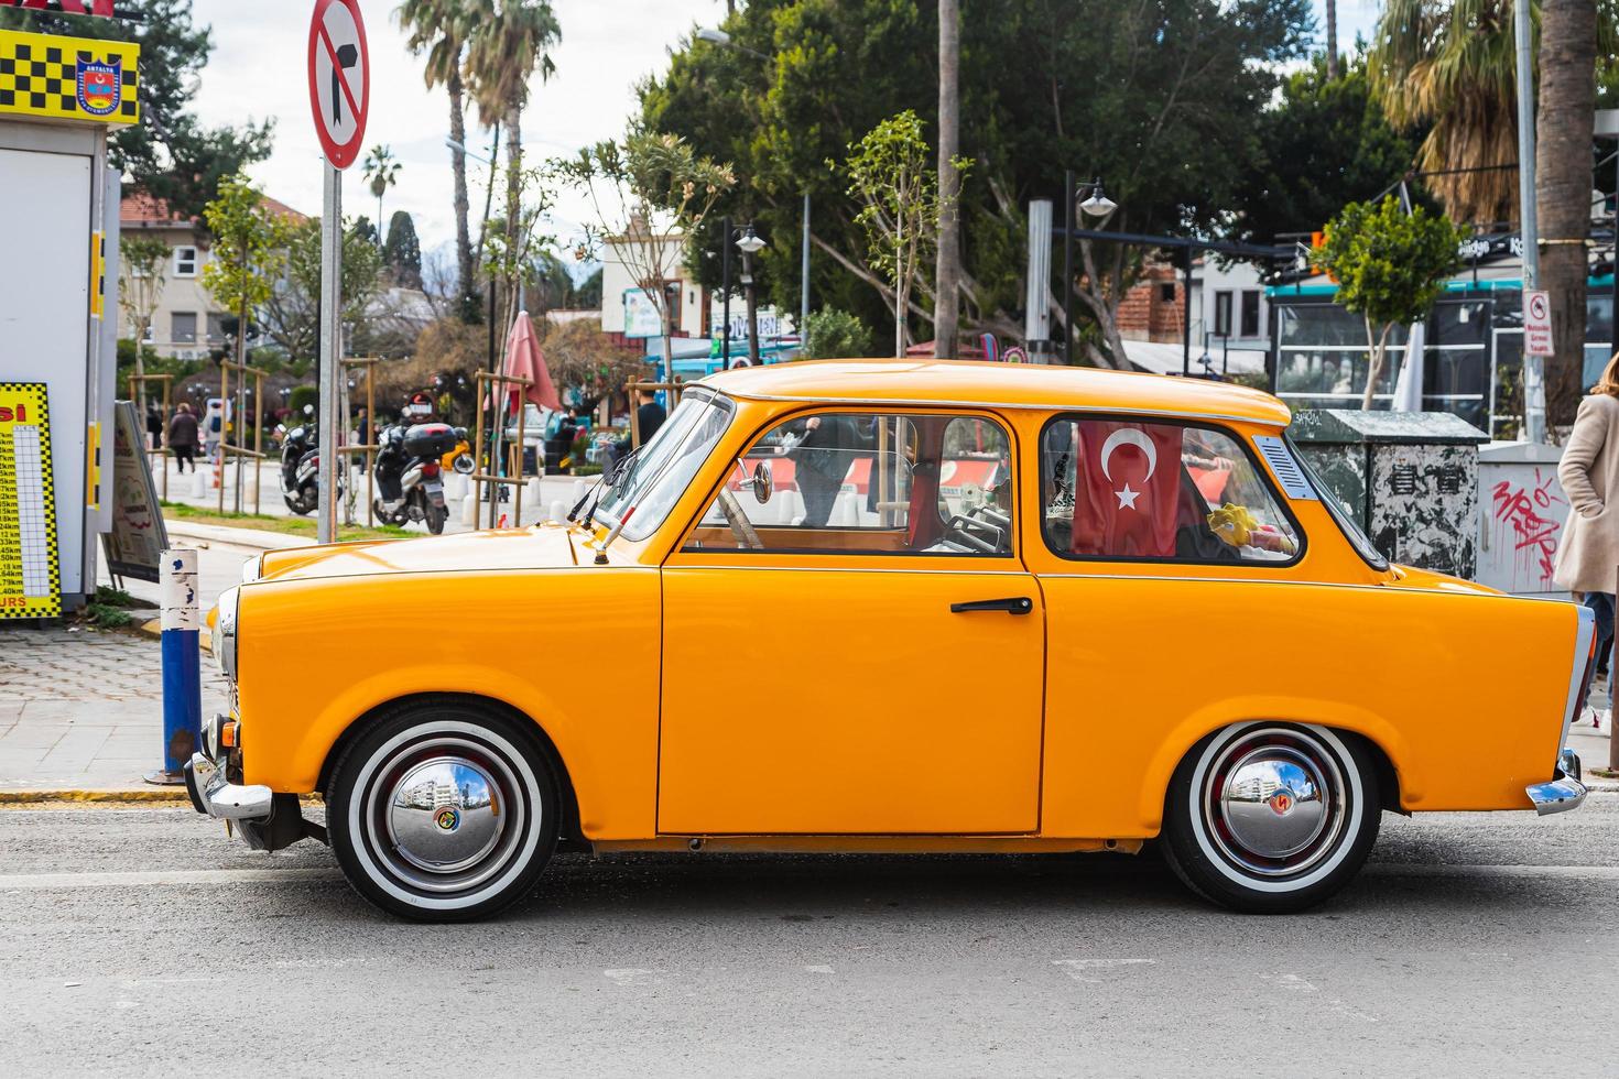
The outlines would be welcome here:
[[[798,416],[732,464],[685,550],[1010,556],[1012,498],[992,419]]]

